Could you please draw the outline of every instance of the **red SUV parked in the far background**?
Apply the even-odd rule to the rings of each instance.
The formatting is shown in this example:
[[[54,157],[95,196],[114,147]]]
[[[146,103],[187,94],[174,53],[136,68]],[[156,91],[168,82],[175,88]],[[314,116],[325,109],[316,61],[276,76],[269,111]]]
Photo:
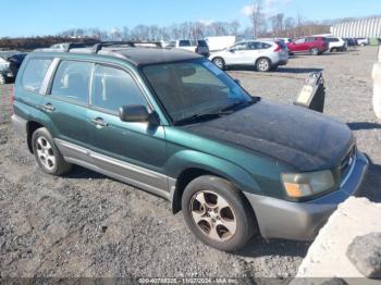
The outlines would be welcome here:
[[[311,36],[288,42],[287,48],[290,50],[290,54],[309,52],[310,54],[319,55],[325,52],[329,46],[324,37]]]

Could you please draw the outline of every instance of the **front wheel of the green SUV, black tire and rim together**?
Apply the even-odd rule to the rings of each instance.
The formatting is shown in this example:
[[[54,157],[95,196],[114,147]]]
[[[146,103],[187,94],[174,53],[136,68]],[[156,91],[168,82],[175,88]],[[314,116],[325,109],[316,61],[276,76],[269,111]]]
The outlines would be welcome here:
[[[223,251],[241,249],[256,233],[256,219],[243,194],[217,176],[192,181],[184,190],[182,209],[190,231],[205,244]]]

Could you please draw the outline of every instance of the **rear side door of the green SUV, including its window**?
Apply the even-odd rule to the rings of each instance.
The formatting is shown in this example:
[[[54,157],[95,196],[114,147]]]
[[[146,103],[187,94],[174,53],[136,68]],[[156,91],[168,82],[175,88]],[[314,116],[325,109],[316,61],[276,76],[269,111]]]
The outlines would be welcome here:
[[[88,147],[87,109],[94,63],[63,60],[58,64],[41,109],[49,117],[53,137],[62,142]],[[61,142],[61,144],[60,144]],[[71,153],[76,158],[81,153]]]

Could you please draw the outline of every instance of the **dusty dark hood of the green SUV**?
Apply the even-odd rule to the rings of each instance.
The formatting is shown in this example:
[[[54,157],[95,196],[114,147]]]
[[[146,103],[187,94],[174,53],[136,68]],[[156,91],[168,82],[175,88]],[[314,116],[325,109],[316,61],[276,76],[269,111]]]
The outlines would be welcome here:
[[[339,166],[355,142],[343,123],[302,107],[269,101],[184,128],[270,156],[302,172]]]

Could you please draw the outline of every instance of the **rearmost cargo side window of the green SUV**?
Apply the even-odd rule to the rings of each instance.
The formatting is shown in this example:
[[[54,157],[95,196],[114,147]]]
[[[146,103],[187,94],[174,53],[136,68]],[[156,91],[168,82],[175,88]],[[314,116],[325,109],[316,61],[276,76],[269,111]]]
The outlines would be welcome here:
[[[51,64],[51,59],[32,59],[28,61],[23,78],[22,86],[29,91],[38,92],[42,80]]]

